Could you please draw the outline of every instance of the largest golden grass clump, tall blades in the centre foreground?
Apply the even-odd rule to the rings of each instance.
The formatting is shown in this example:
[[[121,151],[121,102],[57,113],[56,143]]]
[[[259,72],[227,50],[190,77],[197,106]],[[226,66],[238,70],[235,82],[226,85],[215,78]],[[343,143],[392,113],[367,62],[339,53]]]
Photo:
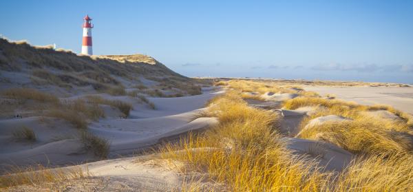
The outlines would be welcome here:
[[[325,189],[322,184],[330,176],[284,148],[273,127],[278,116],[271,111],[248,107],[236,93],[227,93],[213,100],[209,113],[220,124],[202,136],[190,134],[177,145],[167,145],[161,150],[165,158],[187,162],[189,171],[207,171],[233,191]]]

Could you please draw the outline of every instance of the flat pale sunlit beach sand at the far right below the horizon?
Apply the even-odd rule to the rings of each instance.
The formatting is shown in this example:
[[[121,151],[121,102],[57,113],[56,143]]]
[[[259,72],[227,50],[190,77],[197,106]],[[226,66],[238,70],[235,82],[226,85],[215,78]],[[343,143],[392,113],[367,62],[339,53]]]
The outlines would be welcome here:
[[[335,94],[337,98],[363,105],[385,104],[413,114],[413,87],[327,87],[305,86],[321,95]]]

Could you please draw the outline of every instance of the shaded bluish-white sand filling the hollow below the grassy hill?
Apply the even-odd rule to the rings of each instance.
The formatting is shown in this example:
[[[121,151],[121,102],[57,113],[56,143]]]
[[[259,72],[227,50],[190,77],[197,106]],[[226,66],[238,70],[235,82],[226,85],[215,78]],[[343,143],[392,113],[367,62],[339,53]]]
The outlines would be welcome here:
[[[156,105],[150,109],[140,104],[137,98],[102,95],[134,105],[127,119],[109,115],[92,122],[88,130],[110,142],[109,157],[129,155],[138,149],[151,147],[161,140],[176,138],[187,131],[197,131],[212,126],[215,118],[194,117],[203,110],[204,103],[221,92],[180,98],[149,98]],[[74,99],[66,98],[66,99]],[[112,109],[112,114],[114,113]],[[111,111],[105,107],[105,111]],[[115,113],[116,114],[116,113]],[[16,140],[12,133],[23,125],[33,129],[35,142]],[[15,118],[0,120],[0,167],[8,164],[77,164],[94,160],[92,153],[85,151],[78,131],[73,125],[55,118]]]

